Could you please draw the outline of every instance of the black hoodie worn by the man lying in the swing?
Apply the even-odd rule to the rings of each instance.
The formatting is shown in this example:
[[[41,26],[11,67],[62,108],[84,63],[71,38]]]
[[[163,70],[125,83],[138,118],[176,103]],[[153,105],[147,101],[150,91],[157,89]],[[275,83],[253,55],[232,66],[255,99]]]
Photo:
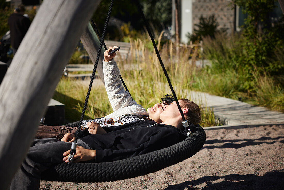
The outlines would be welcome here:
[[[80,139],[96,150],[95,162],[110,162],[138,156],[172,146],[185,139],[180,129],[154,121],[137,121],[103,127],[106,134],[89,134],[84,130]]]

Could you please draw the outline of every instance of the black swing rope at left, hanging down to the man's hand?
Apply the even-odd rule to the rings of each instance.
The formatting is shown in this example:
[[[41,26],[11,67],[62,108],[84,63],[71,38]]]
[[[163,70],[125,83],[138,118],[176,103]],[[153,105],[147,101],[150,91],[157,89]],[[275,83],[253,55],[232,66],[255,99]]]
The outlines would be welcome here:
[[[111,13],[111,10],[112,10],[113,2],[114,2],[114,0],[111,0],[111,2],[110,2],[110,7],[109,7],[109,9],[108,9],[108,14],[107,14],[107,17],[106,17],[105,27],[104,27],[103,35],[102,35],[102,38],[101,38],[101,43],[100,43],[100,46],[99,46],[99,50],[98,50],[98,54],[97,54],[97,59],[96,59],[95,66],[94,66],[94,69],[93,69],[93,74],[92,74],[92,77],[91,77],[89,89],[88,89],[87,96],[86,96],[86,99],[85,99],[85,104],[84,104],[84,107],[83,107],[81,119],[80,119],[80,122],[79,122],[79,124],[78,124],[78,130],[77,130],[76,136],[75,136],[75,142],[76,142],[76,143],[77,143],[77,141],[78,141],[79,132],[80,132],[80,129],[81,129],[81,125],[82,125],[83,118],[84,118],[84,115],[85,115],[85,111],[86,111],[86,108],[87,108],[89,96],[90,96],[90,93],[91,93],[91,88],[92,88],[93,80],[94,80],[94,78],[95,78],[95,73],[96,73],[96,70],[97,70],[98,63],[99,63],[99,58],[100,58],[100,55],[101,55],[101,50],[102,50],[102,47],[103,47],[103,43],[104,43],[104,39],[105,39],[105,33],[106,33],[106,28],[107,28],[107,26],[108,26],[108,21],[109,21],[109,19],[110,19],[110,13]]]

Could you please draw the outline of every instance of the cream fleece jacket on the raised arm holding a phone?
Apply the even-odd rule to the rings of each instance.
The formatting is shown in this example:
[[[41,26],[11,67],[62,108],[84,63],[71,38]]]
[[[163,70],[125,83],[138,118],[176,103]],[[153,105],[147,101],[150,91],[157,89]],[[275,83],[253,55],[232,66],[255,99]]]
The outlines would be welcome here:
[[[109,62],[103,60],[103,73],[106,92],[113,109],[113,112],[104,118],[115,118],[126,114],[149,116],[147,111],[133,101],[128,91],[124,89],[119,77],[120,72],[114,59]]]

